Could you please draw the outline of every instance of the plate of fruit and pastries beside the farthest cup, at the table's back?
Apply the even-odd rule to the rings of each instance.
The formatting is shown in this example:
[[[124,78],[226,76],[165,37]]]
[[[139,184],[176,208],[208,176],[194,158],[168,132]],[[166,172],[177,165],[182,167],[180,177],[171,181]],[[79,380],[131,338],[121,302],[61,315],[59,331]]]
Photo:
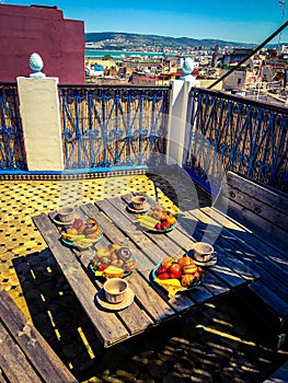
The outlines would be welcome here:
[[[155,233],[166,233],[175,229],[177,224],[176,217],[160,205],[150,209],[147,214],[139,216],[138,222],[140,227]]]

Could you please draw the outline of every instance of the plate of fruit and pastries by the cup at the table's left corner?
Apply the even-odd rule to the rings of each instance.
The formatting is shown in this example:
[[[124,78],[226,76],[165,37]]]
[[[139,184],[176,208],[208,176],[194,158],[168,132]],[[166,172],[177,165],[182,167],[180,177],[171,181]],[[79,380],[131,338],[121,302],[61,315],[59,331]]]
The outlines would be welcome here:
[[[61,232],[61,241],[68,246],[74,246],[80,249],[89,248],[99,242],[103,236],[103,230],[97,221],[89,217],[84,222],[77,218],[71,228]]]

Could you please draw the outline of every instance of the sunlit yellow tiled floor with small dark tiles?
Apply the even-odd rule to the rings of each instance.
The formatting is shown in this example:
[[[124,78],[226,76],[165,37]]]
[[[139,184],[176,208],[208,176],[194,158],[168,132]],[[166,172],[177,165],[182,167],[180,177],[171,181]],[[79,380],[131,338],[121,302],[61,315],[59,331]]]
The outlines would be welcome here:
[[[13,260],[46,248],[32,217],[64,205],[93,202],[117,195],[142,192],[154,197],[154,184],[146,175],[66,182],[4,182],[0,186],[0,283],[28,316]],[[160,193],[163,205],[172,205]]]

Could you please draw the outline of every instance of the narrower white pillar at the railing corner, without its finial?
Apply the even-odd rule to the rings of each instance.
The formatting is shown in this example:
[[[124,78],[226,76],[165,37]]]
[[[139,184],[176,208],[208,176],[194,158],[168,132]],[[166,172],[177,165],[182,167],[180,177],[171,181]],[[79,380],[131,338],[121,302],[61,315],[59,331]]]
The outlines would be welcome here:
[[[168,132],[168,163],[176,163],[182,166],[185,143],[186,118],[188,95],[192,86],[197,86],[192,81],[171,80],[172,95],[169,111]]]

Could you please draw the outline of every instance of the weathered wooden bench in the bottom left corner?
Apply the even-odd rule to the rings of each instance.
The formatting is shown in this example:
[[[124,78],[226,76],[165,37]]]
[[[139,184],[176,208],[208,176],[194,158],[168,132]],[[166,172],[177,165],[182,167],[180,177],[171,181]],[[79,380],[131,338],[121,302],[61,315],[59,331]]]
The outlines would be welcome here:
[[[5,291],[0,291],[0,382],[78,382]]]

